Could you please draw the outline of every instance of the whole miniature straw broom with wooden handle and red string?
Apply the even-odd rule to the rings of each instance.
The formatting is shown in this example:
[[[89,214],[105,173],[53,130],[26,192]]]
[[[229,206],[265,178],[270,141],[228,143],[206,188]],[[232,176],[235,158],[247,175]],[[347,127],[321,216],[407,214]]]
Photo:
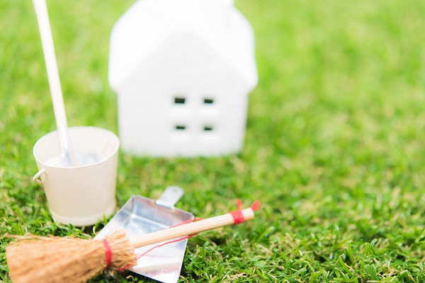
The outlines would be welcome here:
[[[125,270],[136,265],[134,249],[154,243],[254,218],[258,203],[209,219],[128,239],[125,231],[115,231],[103,240],[81,238],[11,236],[17,241],[6,247],[9,275],[13,283],[86,282],[107,270]]]

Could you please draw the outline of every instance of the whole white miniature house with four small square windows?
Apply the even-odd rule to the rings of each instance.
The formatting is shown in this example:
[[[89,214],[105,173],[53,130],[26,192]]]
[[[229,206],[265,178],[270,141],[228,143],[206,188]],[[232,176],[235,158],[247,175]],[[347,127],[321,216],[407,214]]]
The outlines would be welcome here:
[[[236,153],[258,81],[254,33],[232,0],[140,0],[113,27],[108,79],[124,151]]]

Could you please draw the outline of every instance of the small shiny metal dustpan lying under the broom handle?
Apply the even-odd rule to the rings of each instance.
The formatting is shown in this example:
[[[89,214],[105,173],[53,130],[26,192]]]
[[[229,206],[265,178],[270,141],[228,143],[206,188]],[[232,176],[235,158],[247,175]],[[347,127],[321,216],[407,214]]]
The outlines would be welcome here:
[[[191,212],[174,207],[182,195],[180,187],[167,187],[158,200],[133,195],[94,239],[104,238],[117,230],[125,230],[128,238],[133,238],[191,220],[194,218]],[[137,248],[137,265],[130,270],[159,282],[175,283],[179,281],[187,242],[184,239],[164,246],[158,243]],[[154,246],[157,248],[142,255]]]

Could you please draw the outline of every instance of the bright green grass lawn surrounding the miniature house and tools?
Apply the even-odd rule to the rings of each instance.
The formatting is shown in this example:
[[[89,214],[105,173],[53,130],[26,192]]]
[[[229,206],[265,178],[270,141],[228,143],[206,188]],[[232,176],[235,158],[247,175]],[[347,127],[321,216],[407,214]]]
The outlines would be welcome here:
[[[70,126],[117,132],[113,23],[133,1],[48,1]],[[188,241],[181,282],[425,281],[425,2],[236,1],[256,32],[245,146],[220,158],[120,154],[117,199],[159,197],[256,219]],[[0,231],[91,237],[55,224],[33,145],[55,129],[31,1],[0,3]],[[9,282],[0,242],[0,279]],[[94,282],[147,281],[130,272]]]

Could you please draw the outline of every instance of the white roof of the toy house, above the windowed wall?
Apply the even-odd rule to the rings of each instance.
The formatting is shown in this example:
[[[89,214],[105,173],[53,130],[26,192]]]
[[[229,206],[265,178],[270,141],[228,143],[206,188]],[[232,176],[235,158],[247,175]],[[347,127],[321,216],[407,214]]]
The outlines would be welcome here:
[[[115,23],[111,33],[111,87],[120,92],[134,81],[129,78],[141,65],[154,64],[155,57],[161,56],[158,50],[177,52],[176,42],[180,50],[185,46],[190,50],[193,43],[214,52],[248,91],[256,86],[254,33],[232,0],[139,0]],[[196,57],[198,53],[186,56]],[[191,59],[205,64],[202,57]]]

